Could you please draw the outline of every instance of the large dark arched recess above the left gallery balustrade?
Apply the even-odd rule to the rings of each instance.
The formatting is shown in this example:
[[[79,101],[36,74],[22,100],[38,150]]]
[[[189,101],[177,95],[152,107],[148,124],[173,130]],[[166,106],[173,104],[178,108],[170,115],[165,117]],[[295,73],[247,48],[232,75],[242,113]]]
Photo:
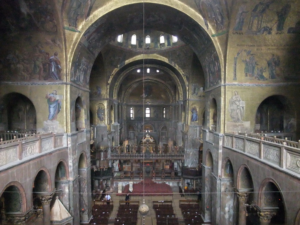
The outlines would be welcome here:
[[[1,130],[36,130],[36,110],[25,95],[10,93],[0,101]]]

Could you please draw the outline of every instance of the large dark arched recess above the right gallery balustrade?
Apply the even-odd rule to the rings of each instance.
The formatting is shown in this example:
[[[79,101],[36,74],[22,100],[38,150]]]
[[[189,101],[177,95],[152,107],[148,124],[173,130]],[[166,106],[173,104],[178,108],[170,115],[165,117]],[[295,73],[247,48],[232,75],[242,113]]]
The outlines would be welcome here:
[[[272,95],[256,111],[255,130],[293,133],[296,131],[295,109],[282,95]]]

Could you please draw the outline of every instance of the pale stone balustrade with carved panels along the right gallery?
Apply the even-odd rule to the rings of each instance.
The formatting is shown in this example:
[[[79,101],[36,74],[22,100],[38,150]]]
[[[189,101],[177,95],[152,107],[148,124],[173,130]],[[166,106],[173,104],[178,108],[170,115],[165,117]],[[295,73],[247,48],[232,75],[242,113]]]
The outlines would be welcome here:
[[[224,134],[223,148],[242,152],[251,158],[300,177],[300,150],[297,142],[257,134],[249,136],[248,134]]]

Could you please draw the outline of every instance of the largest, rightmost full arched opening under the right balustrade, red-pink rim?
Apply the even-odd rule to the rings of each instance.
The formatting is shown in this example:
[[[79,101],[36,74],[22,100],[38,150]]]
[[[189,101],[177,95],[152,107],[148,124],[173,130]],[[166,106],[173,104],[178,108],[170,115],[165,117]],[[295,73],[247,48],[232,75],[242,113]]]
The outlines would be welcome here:
[[[278,184],[270,178],[265,179],[259,188],[259,207],[262,209],[274,208],[276,214],[270,224],[285,224],[286,208]]]

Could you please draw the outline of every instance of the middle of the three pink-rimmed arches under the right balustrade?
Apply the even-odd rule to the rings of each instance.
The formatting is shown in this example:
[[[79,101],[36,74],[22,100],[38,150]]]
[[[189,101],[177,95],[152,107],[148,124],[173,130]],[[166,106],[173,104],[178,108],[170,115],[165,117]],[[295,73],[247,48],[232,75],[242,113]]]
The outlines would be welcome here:
[[[240,166],[237,177],[238,190],[253,190],[253,179],[246,164]]]

